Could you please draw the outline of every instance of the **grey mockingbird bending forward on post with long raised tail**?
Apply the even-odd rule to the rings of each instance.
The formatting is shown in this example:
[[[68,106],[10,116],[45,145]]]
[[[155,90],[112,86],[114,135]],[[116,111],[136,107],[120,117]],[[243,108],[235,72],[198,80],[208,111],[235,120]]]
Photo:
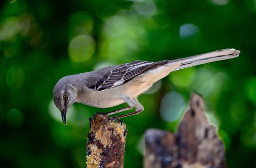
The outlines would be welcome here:
[[[68,108],[75,102],[99,108],[128,104],[127,107],[105,113],[107,116],[135,109],[131,113],[117,116],[120,120],[123,117],[140,114],[144,107],[138,101],[138,96],[170,72],[236,58],[239,53],[240,51],[236,49],[221,49],[177,60],[133,61],[91,72],[68,75],[57,81],[53,89],[53,100],[61,112],[65,125]]]

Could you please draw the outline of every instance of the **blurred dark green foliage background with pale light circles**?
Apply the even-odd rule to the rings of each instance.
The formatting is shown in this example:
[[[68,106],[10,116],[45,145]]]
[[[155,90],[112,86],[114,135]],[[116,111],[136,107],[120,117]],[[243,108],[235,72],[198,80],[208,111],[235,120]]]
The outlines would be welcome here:
[[[143,133],[175,130],[193,90],[228,167],[255,167],[255,19],[254,0],[0,1],[0,167],[84,167],[89,117],[125,106],[74,104],[64,126],[52,100],[59,78],[223,48],[240,57],[173,72],[139,97],[145,111],[123,119],[124,167],[142,167]]]

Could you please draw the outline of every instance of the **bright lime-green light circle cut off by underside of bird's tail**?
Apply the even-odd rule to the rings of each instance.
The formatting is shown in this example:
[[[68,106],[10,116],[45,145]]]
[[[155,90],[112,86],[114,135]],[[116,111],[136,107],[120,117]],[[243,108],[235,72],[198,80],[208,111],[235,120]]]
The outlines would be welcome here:
[[[182,69],[169,75],[169,79],[178,87],[187,87],[195,78],[194,68]]]

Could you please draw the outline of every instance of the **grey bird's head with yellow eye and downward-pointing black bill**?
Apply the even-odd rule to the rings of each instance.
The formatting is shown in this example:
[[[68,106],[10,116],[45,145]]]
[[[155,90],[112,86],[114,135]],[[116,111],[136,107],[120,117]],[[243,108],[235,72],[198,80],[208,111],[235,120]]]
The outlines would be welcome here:
[[[69,82],[68,77],[61,78],[53,89],[53,101],[60,110],[65,125],[68,108],[74,103],[76,95],[76,88]]]

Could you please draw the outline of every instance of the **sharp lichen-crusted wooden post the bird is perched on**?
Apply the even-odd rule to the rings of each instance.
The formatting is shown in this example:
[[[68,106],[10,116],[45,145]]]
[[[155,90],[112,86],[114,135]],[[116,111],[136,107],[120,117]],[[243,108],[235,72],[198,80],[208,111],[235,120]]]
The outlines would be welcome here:
[[[102,114],[90,119],[87,167],[123,167],[126,126]]]

